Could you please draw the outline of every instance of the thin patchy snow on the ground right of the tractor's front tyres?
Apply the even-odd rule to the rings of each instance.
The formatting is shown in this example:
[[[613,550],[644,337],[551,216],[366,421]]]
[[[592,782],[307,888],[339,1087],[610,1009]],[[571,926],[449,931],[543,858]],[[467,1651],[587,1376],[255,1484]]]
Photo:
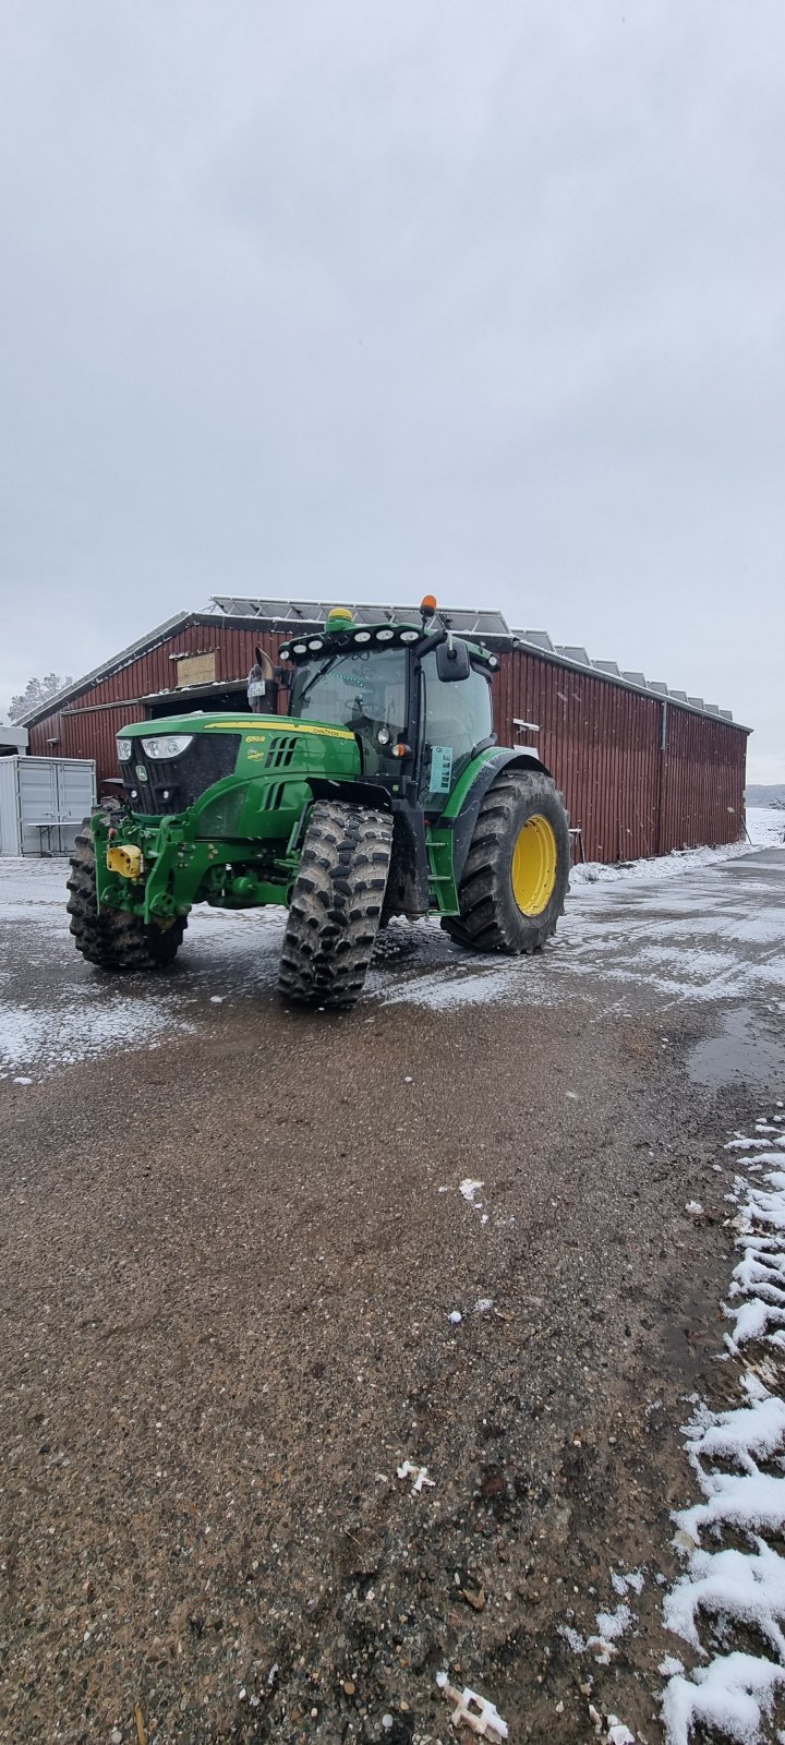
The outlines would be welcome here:
[[[748,822],[755,846],[771,846],[773,832],[785,832],[780,811],[750,813]],[[750,845],[734,843],[628,867],[574,867],[565,914],[537,958],[471,956],[438,923],[391,928],[408,937],[410,956],[392,981],[375,972],[370,991],[387,1003],[443,1012],[497,1000],[556,1005],[583,998],[625,1016],[644,986],[663,1010],[754,996],[785,1010],[785,864],[759,869],[748,859],[733,876],[722,872],[745,855]]]

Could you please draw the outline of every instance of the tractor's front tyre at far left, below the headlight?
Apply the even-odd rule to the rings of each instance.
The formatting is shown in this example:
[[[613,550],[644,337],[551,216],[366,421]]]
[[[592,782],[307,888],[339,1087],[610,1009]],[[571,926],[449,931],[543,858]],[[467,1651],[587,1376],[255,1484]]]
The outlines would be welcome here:
[[[157,927],[119,909],[98,913],[96,845],[89,818],[84,820],[73,845],[68,892],[73,944],[87,963],[94,963],[99,970],[164,970],[174,963],[187,928],[185,920]]]

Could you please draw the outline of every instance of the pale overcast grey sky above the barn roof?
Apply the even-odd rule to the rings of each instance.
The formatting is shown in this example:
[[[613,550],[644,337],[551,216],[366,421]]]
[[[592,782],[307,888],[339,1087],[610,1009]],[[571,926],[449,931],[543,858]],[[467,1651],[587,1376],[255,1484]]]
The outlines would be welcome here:
[[[427,588],[785,778],[783,0],[0,17],[0,703]]]

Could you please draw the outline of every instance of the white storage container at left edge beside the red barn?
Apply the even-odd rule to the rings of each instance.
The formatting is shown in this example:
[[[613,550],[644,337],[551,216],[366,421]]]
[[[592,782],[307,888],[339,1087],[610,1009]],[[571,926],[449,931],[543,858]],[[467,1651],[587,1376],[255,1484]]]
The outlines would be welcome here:
[[[0,855],[68,855],[96,804],[87,757],[0,757]]]

